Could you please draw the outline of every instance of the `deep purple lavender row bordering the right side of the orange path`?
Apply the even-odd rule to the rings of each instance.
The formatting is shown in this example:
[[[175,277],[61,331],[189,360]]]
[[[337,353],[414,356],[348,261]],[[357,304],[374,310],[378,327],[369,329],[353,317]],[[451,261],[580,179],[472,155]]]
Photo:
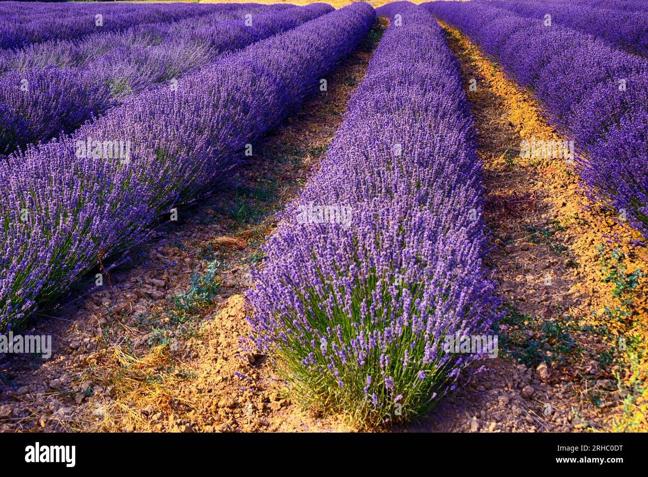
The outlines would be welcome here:
[[[648,238],[648,62],[487,2],[424,4],[498,59],[573,138],[591,199]]]

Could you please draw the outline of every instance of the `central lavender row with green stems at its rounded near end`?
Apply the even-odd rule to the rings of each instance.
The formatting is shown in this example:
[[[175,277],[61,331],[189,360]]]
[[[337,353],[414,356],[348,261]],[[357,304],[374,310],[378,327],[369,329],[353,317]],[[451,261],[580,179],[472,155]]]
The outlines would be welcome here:
[[[385,14],[367,76],[248,291],[253,346],[292,398],[360,426],[434,406],[474,358],[445,352],[446,336],[486,334],[498,306],[458,62],[423,8]]]

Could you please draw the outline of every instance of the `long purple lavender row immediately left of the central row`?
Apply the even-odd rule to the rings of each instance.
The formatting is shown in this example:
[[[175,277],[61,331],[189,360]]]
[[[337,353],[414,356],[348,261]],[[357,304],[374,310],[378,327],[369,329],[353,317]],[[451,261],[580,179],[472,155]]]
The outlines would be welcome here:
[[[110,269],[152,236],[159,214],[181,215],[183,201],[229,180],[246,144],[317,91],[374,19],[366,3],[331,12],[3,161],[0,329],[51,304],[99,259]]]

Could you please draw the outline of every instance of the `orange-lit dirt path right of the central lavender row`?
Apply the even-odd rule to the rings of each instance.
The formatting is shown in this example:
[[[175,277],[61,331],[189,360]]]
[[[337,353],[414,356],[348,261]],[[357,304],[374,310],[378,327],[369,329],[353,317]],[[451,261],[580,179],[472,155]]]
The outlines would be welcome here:
[[[500,357],[410,430],[646,430],[647,256],[631,244],[638,234],[587,201],[568,157],[520,157],[523,140],[563,138],[529,93],[442,26],[478,129],[487,265],[506,316]]]

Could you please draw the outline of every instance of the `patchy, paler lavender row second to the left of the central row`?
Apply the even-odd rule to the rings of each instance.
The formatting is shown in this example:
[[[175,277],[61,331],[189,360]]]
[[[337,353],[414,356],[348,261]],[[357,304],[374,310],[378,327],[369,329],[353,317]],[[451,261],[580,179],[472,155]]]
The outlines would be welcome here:
[[[224,53],[331,10],[332,6],[318,3],[214,25],[203,25],[198,19],[197,28],[182,29],[157,45],[111,49],[80,67],[6,73],[0,77],[0,160],[18,148],[73,132],[133,93],[178,79]],[[246,26],[246,21],[251,25]]]

